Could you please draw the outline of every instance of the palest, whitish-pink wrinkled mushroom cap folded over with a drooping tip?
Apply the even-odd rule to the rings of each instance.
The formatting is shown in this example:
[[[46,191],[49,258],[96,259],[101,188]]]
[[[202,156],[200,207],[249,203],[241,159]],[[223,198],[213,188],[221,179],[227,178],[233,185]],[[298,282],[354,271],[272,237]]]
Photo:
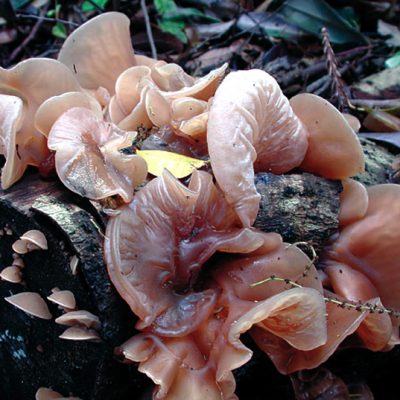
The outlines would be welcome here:
[[[257,215],[254,170],[283,173],[307,150],[307,131],[277,82],[261,70],[230,73],[210,107],[208,150],[215,178],[244,226]]]

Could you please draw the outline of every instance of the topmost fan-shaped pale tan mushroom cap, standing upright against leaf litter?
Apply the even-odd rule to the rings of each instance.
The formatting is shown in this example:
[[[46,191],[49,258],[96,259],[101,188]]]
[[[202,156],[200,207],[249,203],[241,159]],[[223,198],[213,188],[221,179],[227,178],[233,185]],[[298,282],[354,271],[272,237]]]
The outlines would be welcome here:
[[[65,40],[58,60],[82,87],[106,88],[114,94],[118,76],[136,65],[129,18],[118,12],[101,14],[81,25]]]

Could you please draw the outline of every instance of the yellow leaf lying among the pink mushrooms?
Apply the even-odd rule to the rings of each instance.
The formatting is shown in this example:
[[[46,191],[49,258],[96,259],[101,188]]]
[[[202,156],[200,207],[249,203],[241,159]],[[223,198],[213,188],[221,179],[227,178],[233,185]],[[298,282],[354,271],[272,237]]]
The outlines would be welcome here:
[[[162,175],[164,168],[166,168],[175,178],[184,178],[196,168],[206,165],[206,161],[169,151],[136,150],[136,154],[145,159],[148,171],[155,176]]]

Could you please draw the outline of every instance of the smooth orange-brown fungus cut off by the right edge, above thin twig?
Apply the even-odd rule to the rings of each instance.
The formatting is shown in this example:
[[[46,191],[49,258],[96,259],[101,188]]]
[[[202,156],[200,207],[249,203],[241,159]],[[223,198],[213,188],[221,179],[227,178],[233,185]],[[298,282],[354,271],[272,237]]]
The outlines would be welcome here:
[[[323,263],[328,266],[332,285],[339,294],[360,297],[361,300],[378,298],[378,305],[381,302],[386,308],[399,310],[400,186],[371,186],[367,188],[367,193],[365,215],[342,227],[339,236],[327,249]],[[342,273],[351,275],[352,279],[344,279],[338,274],[335,267],[338,263],[343,266]],[[362,339],[373,350],[399,343],[398,318],[392,317],[390,341],[387,341],[390,331],[388,321],[384,318],[373,315],[366,320],[368,325],[364,326],[364,330],[367,329],[369,335],[373,332],[374,336],[366,340],[368,334],[365,334]]]

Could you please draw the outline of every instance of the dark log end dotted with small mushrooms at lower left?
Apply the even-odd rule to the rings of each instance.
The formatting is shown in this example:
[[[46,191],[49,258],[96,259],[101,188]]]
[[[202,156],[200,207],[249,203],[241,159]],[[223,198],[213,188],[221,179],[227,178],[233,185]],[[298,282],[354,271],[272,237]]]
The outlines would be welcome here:
[[[12,264],[11,246],[27,230],[41,230],[49,247],[21,256],[23,285],[0,281],[0,398],[34,399],[41,386],[85,400],[131,399],[139,393],[147,379],[113,358],[114,347],[134,333],[135,320],[107,277],[101,227],[90,203],[57,182],[30,174],[0,192],[0,228],[6,228],[0,269]],[[77,275],[70,269],[74,255],[79,258]],[[72,291],[78,309],[100,318],[101,342],[60,339],[66,327],[54,318],[62,311],[50,302],[54,318],[42,320],[3,299],[24,291],[46,299],[55,287]]]

